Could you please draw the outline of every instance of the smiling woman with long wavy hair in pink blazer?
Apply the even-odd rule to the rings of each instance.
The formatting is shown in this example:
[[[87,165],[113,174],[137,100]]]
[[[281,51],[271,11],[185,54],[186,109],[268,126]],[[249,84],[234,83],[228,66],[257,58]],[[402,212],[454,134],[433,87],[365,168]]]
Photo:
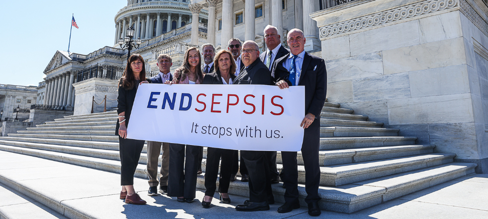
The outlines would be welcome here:
[[[183,64],[175,71],[173,81],[166,81],[165,84],[202,84],[200,51],[195,47],[189,48],[183,58]],[[193,202],[197,189],[198,155],[201,148],[201,146],[169,144],[167,196],[177,197],[179,202]]]

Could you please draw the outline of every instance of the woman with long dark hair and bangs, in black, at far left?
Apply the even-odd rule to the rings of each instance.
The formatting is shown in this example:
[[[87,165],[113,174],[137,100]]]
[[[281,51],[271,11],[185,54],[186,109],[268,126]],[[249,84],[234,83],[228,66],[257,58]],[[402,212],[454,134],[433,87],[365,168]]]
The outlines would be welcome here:
[[[139,54],[133,54],[127,61],[125,71],[119,81],[119,96],[117,97],[119,121],[115,128],[115,135],[119,135],[119,151],[121,158],[121,199],[125,203],[145,204],[134,190],[134,173],[139,162],[143,140],[127,138],[130,112],[136,98],[137,88],[141,81],[146,80],[144,59]]]

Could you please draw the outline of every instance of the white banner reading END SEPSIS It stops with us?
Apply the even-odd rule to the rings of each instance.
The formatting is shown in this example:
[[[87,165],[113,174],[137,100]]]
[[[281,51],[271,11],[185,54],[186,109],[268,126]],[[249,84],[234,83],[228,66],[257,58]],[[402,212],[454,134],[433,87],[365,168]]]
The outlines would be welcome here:
[[[127,138],[239,150],[299,151],[305,88],[142,84]]]

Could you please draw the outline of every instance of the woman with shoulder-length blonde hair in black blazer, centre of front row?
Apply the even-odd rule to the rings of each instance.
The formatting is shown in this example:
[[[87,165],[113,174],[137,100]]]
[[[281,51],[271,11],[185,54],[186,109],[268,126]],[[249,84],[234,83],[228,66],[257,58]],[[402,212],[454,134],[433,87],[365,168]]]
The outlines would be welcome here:
[[[236,63],[229,51],[221,50],[214,58],[215,72],[205,74],[203,84],[232,84],[236,79]],[[234,150],[222,148],[207,148],[207,162],[205,166],[205,196],[203,197],[203,208],[209,208],[210,202],[217,188],[217,175],[219,173],[219,161],[222,158],[219,179],[220,200],[224,203],[230,203],[228,195],[230,175],[232,173],[232,161]]]

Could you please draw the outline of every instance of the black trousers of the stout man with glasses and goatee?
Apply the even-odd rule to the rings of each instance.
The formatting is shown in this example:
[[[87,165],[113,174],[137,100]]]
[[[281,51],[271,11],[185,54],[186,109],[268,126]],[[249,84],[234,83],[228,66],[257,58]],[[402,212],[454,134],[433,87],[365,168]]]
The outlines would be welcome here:
[[[249,201],[274,199],[265,151],[241,150],[241,157],[249,174]]]

